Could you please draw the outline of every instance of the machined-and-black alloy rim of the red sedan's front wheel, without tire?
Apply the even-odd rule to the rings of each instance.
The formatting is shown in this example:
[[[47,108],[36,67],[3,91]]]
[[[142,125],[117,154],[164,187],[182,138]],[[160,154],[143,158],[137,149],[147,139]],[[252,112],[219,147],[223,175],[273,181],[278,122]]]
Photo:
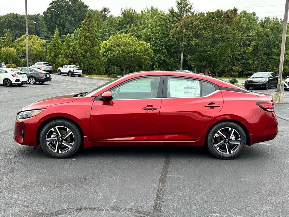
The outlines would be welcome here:
[[[64,126],[51,128],[46,135],[46,145],[55,153],[66,153],[74,144],[74,135],[70,129]]]

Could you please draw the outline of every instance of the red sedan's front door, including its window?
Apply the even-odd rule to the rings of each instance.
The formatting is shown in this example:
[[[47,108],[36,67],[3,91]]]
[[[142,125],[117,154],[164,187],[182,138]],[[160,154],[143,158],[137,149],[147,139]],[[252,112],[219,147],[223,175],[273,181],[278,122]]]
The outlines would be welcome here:
[[[162,76],[131,79],[110,89],[112,101],[96,98],[91,111],[93,141],[159,141]]]

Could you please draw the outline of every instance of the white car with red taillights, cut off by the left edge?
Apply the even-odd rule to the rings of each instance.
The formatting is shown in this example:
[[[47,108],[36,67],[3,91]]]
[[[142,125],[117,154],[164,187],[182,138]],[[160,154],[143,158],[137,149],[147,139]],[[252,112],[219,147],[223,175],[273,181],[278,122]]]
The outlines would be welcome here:
[[[6,87],[12,84],[22,86],[27,83],[27,75],[16,68],[0,68],[0,83]]]

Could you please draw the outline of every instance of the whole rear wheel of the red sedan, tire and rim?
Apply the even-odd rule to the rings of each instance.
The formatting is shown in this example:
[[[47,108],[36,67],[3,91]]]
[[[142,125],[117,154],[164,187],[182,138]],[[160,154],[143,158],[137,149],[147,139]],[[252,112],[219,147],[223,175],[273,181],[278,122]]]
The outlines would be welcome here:
[[[229,129],[234,129],[233,139],[228,138],[230,132],[226,135],[226,131]],[[219,136],[217,132],[222,132],[225,139],[222,136]],[[234,140],[237,138],[236,140]],[[209,152],[220,159],[232,159],[237,157],[246,145],[246,133],[243,128],[233,122],[222,122],[216,124],[209,132],[207,136],[207,149]],[[230,141],[231,140],[231,141]],[[223,141],[223,142],[222,142]],[[227,141],[227,142],[226,142]],[[231,143],[232,142],[232,143]],[[235,143],[235,144],[233,144]],[[239,143],[239,144],[238,144]],[[218,146],[218,148],[216,148]]]

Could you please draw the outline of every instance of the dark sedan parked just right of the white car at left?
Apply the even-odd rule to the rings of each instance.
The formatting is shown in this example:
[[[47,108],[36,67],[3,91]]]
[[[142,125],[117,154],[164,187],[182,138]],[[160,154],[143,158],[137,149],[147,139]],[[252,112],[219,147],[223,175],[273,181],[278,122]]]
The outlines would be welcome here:
[[[28,78],[27,82],[30,84],[36,84],[36,82],[43,84],[47,81],[51,81],[50,73],[44,72],[38,68],[18,67],[17,69],[26,73]]]

